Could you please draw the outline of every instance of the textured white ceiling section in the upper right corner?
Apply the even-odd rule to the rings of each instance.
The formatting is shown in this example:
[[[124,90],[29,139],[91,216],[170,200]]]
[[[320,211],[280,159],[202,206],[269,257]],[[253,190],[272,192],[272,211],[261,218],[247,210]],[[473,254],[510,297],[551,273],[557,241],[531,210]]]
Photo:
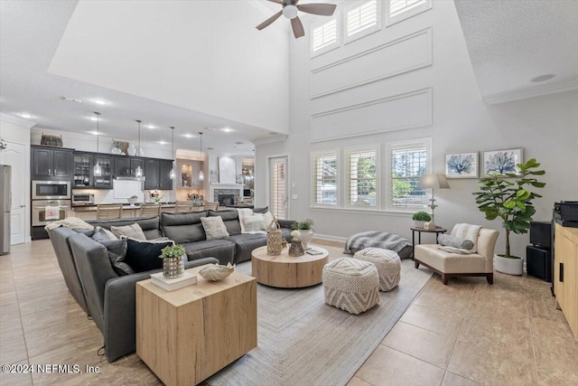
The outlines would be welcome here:
[[[575,87],[578,1],[455,0],[482,97]],[[537,76],[555,78],[534,83]]]

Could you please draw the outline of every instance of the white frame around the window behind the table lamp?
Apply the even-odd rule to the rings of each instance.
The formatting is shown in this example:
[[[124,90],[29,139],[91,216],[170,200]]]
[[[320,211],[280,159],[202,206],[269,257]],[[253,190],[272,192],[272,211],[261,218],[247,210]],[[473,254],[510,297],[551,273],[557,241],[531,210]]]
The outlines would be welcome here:
[[[403,140],[403,141],[396,141],[396,142],[388,142],[386,144],[386,156],[387,156],[387,162],[386,162],[386,184],[385,184],[385,188],[386,188],[386,192],[385,192],[385,209],[387,212],[417,212],[419,210],[419,208],[416,207],[403,207],[403,206],[394,206],[393,205],[393,197],[392,197],[392,191],[393,191],[393,178],[392,178],[392,174],[391,174],[391,168],[392,168],[392,163],[391,163],[391,155],[393,153],[394,150],[396,149],[400,149],[400,148],[407,148],[407,147],[415,147],[415,146],[425,146],[425,174],[429,174],[432,173],[432,149],[433,149],[433,140],[431,137],[426,137],[426,138],[415,138],[415,139],[409,139],[409,140]],[[427,193],[426,193],[427,196]],[[427,207],[427,204],[424,204],[424,208]]]

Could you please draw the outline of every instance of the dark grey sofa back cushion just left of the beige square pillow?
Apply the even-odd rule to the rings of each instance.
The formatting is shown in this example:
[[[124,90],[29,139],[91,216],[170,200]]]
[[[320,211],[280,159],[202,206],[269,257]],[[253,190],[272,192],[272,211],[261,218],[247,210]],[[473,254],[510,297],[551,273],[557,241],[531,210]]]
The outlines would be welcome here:
[[[161,213],[163,236],[177,244],[206,240],[205,230],[200,219],[207,217],[205,212]]]

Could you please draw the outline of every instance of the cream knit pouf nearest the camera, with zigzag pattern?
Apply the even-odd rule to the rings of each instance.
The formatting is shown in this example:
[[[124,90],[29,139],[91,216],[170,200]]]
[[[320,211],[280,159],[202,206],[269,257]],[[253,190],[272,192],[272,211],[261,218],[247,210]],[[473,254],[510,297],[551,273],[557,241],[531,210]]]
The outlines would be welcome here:
[[[378,269],[359,259],[339,258],[323,267],[325,303],[361,314],[379,303]]]

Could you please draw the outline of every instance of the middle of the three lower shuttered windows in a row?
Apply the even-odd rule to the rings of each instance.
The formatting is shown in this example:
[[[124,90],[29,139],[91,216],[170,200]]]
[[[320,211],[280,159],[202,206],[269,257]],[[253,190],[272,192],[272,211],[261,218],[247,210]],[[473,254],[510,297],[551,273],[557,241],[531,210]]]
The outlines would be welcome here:
[[[347,153],[348,205],[378,206],[378,151],[376,148]]]

